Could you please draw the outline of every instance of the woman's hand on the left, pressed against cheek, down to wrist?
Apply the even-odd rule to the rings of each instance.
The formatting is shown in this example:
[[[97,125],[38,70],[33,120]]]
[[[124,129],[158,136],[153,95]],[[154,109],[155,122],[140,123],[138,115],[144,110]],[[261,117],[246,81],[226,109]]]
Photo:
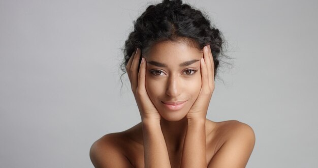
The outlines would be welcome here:
[[[132,91],[134,93],[141,120],[158,120],[160,121],[161,116],[158,113],[158,110],[153,105],[150,100],[148,93],[145,87],[145,78],[146,78],[146,59],[142,58],[139,72],[139,60],[140,60],[141,50],[137,48],[136,51],[132,54],[132,57],[129,59],[126,65],[126,72],[128,74]]]

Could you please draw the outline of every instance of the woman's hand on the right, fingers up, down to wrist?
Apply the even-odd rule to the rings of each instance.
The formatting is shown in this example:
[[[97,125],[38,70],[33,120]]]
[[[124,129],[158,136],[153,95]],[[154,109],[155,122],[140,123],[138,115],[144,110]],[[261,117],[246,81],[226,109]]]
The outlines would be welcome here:
[[[214,91],[214,63],[210,45],[203,47],[200,61],[202,86],[197,100],[190,108],[187,119],[206,119],[209,103]]]

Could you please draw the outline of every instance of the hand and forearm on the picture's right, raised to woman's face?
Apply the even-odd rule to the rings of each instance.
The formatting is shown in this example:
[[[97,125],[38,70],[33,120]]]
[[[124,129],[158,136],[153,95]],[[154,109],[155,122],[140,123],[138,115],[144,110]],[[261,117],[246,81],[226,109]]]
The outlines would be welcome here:
[[[200,62],[202,87],[196,102],[187,114],[187,130],[184,138],[181,167],[207,167],[205,120],[214,91],[214,64],[209,46],[203,48]]]

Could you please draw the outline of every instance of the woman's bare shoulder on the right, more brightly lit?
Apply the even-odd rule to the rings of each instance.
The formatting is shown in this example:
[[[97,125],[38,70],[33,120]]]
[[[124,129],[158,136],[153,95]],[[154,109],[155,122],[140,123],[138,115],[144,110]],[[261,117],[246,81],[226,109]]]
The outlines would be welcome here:
[[[253,129],[236,120],[218,122],[219,149],[209,167],[245,167],[255,145]]]

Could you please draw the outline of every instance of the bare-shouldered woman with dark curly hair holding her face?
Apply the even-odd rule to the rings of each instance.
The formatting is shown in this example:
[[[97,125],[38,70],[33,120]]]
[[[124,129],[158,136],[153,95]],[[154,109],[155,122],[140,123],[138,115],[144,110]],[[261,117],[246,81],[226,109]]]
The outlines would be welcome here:
[[[96,141],[96,167],[245,167],[253,130],[206,119],[222,49],[219,31],[181,1],[149,6],[125,42],[141,122]],[[214,113],[214,111],[213,111]]]

